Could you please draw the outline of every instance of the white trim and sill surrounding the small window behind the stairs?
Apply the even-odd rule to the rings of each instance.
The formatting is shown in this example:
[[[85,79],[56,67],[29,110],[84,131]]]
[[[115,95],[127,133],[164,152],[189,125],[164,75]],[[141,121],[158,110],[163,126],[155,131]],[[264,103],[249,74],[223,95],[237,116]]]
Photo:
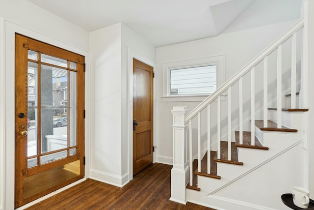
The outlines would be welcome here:
[[[170,70],[178,68],[216,65],[217,89],[225,82],[225,55],[216,55],[200,59],[181,60],[163,63],[163,102],[203,101],[210,94],[170,95]]]

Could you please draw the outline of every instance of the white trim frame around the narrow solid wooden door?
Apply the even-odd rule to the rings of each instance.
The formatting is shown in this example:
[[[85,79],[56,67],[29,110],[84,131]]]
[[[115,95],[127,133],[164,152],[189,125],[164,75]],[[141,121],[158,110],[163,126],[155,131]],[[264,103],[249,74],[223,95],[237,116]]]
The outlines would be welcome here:
[[[149,58],[139,55],[128,48],[128,82],[129,82],[129,96],[128,96],[128,142],[129,142],[129,181],[133,179],[133,59],[139,60],[156,70],[156,63]],[[153,145],[156,144],[156,77],[153,79]],[[156,161],[156,152],[153,153],[153,163]]]

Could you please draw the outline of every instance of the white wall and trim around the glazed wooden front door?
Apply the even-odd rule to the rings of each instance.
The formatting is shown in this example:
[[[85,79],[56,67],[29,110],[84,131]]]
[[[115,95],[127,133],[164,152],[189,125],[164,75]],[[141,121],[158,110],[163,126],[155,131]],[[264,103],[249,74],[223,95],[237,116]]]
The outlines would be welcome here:
[[[0,4],[0,17],[3,18],[0,36],[0,209],[14,209],[14,176],[11,176],[14,174],[14,33],[84,55],[87,71],[89,33],[26,0],[1,0]],[[85,76],[89,98],[89,73]],[[85,108],[89,114],[89,99],[87,101]],[[89,117],[85,122],[89,127]],[[89,135],[88,128],[85,135]]]

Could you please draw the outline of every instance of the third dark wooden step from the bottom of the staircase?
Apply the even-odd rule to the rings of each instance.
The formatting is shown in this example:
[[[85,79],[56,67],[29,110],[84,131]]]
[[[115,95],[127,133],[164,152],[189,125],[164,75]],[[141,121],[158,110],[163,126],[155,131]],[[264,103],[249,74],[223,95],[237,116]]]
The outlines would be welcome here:
[[[228,160],[228,142],[225,141],[220,142],[220,159],[218,159],[217,157],[218,155],[216,153],[214,158],[214,161],[216,162],[243,165],[242,162],[238,161],[237,148],[235,146],[235,142],[231,142],[231,160]]]

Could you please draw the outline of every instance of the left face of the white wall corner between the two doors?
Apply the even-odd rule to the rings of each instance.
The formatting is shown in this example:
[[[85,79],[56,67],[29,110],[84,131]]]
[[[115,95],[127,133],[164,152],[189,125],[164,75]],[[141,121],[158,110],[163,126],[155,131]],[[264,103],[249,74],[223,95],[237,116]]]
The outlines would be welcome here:
[[[90,177],[121,185],[121,24],[91,32],[90,54],[95,91]]]

